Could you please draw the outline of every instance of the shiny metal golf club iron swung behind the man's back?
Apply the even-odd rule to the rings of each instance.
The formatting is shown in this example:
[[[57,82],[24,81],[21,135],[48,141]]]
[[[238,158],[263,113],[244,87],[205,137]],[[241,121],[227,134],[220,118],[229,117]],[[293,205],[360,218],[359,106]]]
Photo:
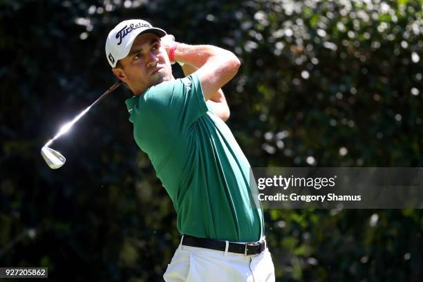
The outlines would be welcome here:
[[[106,92],[104,92],[100,97],[98,97],[97,100],[93,102],[93,104],[91,104],[84,111],[79,113],[79,115],[77,115],[73,120],[71,120],[71,122],[67,122],[66,124],[64,124],[53,139],[48,140],[48,142],[44,144],[44,146],[41,148],[41,156],[43,156],[50,169],[58,169],[59,167],[62,167],[66,162],[66,158],[61,153],[49,147],[53,143],[53,141],[59,138],[60,136],[64,135],[64,133],[68,132],[69,129],[71,129],[71,127],[73,126],[73,124],[75,124],[75,122],[82,118],[82,116],[84,116],[95,104],[97,104],[97,102],[100,102],[100,100],[106,97],[106,95],[109,95],[116,88],[118,88],[120,84],[122,84],[122,82],[120,81],[113,84],[111,88],[107,89]]]

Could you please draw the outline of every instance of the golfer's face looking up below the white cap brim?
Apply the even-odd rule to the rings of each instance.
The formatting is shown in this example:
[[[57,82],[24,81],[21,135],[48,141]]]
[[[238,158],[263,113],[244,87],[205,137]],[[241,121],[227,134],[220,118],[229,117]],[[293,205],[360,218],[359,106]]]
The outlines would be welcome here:
[[[138,35],[129,54],[113,68],[115,75],[125,82],[134,95],[150,86],[173,79],[172,68],[160,37],[153,33]]]

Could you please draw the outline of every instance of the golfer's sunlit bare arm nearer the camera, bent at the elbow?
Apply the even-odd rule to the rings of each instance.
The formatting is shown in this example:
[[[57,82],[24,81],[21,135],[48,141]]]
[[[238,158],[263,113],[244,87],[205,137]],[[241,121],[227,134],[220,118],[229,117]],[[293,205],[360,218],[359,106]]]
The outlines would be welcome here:
[[[234,53],[211,45],[178,44],[174,58],[177,62],[198,68],[205,100],[209,100],[219,88],[227,84],[238,71],[241,62]]]

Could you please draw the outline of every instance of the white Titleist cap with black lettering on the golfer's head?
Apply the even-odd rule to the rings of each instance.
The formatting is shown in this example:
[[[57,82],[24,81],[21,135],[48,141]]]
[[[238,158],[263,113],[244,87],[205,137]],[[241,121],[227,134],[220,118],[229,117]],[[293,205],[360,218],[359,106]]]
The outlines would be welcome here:
[[[115,68],[120,59],[129,54],[133,41],[141,33],[151,32],[158,37],[164,37],[166,32],[160,28],[153,28],[147,21],[142,19],[129,19],[115,26],[106,40],[106,57],[112,68]]]

